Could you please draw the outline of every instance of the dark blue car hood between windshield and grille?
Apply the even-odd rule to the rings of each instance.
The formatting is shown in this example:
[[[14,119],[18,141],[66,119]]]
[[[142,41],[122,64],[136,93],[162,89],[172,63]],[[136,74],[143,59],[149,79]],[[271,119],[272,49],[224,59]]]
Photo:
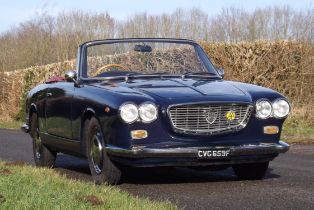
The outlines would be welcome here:
[[[251,102],[250,94],[224,80],[155,78],[98,84],[121,94],[142,94],[156,100]]]

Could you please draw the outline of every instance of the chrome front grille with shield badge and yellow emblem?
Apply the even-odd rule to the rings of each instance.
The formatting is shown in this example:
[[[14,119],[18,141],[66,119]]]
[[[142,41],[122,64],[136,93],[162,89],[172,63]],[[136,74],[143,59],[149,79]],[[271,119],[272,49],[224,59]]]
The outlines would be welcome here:
[[[175,131],[200,135],[236,132],[250,119],[248,104],[185,104],[168,109]]]

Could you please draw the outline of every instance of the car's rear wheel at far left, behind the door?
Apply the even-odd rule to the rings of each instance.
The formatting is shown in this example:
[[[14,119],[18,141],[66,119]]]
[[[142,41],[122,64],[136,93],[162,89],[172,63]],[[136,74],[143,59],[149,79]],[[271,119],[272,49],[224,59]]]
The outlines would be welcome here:
[[[30,135],[33,140],[33,155],[36,166],[52,168],[56,161],[57,153],[48,149],[39,136],[38,117],[36,113],[31,116]]]

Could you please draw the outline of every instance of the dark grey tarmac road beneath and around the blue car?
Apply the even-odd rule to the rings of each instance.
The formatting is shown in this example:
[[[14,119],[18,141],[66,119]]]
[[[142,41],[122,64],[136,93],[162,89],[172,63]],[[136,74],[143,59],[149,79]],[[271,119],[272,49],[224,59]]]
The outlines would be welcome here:
[[[30,137],[0,130],[0,159],[33,164]],[[86,160],[58,155],[55,170],[91,181]],[[118,187],[133,195],[169,200],[183,209],[314,209],[314,145],[293,145],[271,162],[260,181],[238,181],[230,169],[135,170]]]

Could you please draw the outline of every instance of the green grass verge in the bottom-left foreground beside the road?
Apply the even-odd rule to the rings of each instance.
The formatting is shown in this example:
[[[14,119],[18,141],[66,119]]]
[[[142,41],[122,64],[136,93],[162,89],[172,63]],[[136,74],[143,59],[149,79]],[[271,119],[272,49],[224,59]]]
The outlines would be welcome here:
[[[70,180],[52,169],[0,161],[0,209],[177,209],[106,185]]]

